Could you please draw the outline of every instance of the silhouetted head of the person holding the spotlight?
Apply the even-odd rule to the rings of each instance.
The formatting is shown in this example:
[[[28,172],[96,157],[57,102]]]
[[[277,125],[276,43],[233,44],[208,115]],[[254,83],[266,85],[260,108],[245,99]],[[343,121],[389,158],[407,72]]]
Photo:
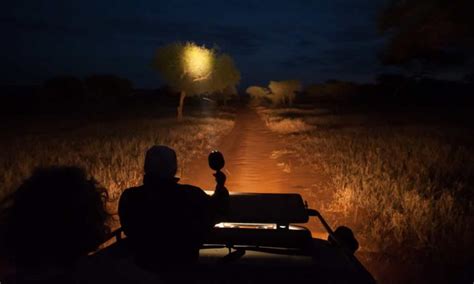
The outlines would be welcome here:
[[[145,155],[145,176],[158,180],[174,180],[178,162],[176,152],[168,146],[156,145]]]

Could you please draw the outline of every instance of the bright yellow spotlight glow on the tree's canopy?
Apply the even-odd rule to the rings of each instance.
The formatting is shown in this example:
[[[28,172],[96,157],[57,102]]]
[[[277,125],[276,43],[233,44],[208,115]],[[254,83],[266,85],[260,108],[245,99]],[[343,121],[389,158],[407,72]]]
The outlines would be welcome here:
[[[182,58],[185,73],[196,81],[206,79],[212,70],[212,57],[212,51],[205,47],[187,45]]]

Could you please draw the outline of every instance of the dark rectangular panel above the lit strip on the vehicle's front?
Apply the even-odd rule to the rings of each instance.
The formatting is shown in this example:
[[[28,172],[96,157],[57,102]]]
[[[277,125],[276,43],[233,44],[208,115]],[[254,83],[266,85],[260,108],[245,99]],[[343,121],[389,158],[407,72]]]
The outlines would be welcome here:
[[[308,214],[299,194],[231,193],[223,222],[288,225],[308,222]]]

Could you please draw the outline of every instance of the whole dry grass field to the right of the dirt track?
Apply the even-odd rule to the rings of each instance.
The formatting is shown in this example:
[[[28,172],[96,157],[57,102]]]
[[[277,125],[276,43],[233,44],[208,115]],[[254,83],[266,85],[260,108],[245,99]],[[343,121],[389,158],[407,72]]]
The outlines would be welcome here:
[[[450,272],[440,270],[462,271],[472,261],[469,123],[423,112],[371,115],[307,107],[259,113],[270,129],[291,136],[288,150],[301,163],[330,177],[332,199],[325,211],[336,220],[333,226],[354,229],[361,255],[378,256],[379,270],[386,260],[413,269],[435,267],[446,275]]]

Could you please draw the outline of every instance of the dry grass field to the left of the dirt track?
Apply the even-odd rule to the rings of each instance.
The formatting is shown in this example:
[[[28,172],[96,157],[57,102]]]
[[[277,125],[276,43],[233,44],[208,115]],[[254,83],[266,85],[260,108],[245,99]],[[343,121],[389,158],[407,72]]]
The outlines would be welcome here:
[[[110,211],[114,213],[122,190],[142,182],[147,148],[154,144],[173,147],[178,155],[179,175],[186,175],[191,159],[210,150],[232,129],[233,114],[194,114],[181,123],[173,116],[57,123],[61,125],[54,128],[51,121],[31,120],[15,129],[10,126],[6,131],[13,134],[2,135],[0,200],[12,193],[35,167],[75,165],[86,169],[108,189]]]

